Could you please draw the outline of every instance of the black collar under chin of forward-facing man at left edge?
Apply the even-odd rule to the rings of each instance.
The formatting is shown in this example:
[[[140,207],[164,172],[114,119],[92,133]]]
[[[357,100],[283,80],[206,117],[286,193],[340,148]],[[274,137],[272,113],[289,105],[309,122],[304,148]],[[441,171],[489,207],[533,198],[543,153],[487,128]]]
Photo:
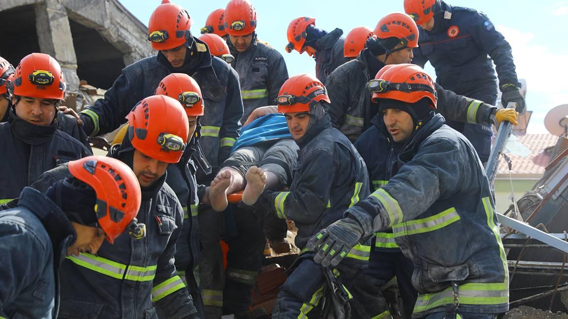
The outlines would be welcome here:
[[[30,145],[43,144],[53,137],[57,130],[57,114],[53,121],[48,126],[41,126],[31,124],[26,120],[20,119],[16,116],[16,112],[11,109],[10,111],[10,129],[12,133],[21,141]]]

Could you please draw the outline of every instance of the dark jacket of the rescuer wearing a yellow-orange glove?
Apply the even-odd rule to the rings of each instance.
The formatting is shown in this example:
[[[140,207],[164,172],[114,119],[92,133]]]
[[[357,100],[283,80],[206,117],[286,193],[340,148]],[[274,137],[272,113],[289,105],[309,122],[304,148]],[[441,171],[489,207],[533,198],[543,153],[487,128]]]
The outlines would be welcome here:
[[[329,75],[325,87],[329,94],[329,108],[333,127],[354,142],[371,126],[370,119],[377,113],[378,106],[371,102],[371,94],[366,89],[370,81],[367,49],[361,51],[356,60],[339,66]],[[374,74],[372,75],[374,78]],[[464,123],[483,123],[490,125],[491,115],[497,110],[479,100],[456,95],[436,85],[438,93],[437,112],[447,119]]]

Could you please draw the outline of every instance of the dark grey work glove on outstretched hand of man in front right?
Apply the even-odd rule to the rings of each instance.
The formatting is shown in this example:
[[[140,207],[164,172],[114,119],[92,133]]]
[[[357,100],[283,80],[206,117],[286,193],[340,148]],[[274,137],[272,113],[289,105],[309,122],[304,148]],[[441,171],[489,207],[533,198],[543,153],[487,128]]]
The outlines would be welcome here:
[[[316,253],[316,263],[321,263],[324,267],[335,267],[357,245],[362,236],[361,225],[346,217],[321,230],[308,241],[306,248]]]

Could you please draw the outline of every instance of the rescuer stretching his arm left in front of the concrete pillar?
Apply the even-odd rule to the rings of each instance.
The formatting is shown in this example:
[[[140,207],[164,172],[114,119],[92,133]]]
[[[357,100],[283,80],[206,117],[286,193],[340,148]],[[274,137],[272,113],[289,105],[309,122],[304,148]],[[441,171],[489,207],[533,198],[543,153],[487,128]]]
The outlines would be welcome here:
[[[243,106],[238,75],[219,58],[211,57],[207,45],[191,35],[191,23],[185,9],[162,0],[148,23],[148,40],[158,54],[124,68],[105,98],[81,111],[80,119],[89,136],[110,132],[123,124],[133,105],[154,93],[166,75],[190,75],[203,88],[203,100],[210,110],[200,121],[200,145],[207,161],[197,161],[203,168],[199,180],[208,183],[239,136]],[[206,175],[207,162],[213,169]]]

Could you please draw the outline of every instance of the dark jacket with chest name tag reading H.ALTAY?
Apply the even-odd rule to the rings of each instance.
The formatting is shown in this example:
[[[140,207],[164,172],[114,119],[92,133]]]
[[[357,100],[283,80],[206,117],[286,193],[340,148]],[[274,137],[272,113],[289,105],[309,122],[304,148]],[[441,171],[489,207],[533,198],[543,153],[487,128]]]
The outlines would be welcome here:
[[[239,73],[244,106],[241,123],[245,123],[255,108],[274,104],[280,87],[288,79],[288,70],[282,54],[257,41],[256,35],[245,52],[237,51],[230,40],[227,44],[235,56],[231,66]]]

